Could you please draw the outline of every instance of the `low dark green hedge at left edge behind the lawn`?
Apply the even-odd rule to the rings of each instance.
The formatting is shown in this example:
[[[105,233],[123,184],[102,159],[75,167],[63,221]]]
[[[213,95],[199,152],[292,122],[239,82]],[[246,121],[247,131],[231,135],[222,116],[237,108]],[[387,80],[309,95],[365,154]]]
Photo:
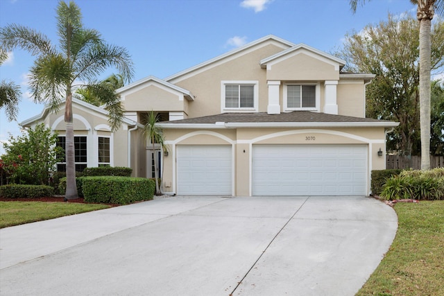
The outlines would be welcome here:
[[[53,187],[46,185],[9,184],[0,186],[0,196],[3,198],[41,198],[53,195]]]

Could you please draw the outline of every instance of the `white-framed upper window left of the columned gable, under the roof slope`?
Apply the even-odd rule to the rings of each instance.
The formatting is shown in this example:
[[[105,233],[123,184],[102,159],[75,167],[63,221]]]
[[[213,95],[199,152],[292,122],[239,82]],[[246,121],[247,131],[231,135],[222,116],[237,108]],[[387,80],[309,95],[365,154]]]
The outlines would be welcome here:
[[[222,81],[221,112],[257,112],[257,81]]]

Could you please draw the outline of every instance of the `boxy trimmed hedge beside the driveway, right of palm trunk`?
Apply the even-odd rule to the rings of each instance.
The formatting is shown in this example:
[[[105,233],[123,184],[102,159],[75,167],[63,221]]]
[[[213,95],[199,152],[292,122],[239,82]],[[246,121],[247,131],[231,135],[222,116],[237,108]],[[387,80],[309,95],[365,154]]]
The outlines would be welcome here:
[[[82,177],[85,202],[130,204],[152,200],[155,182],[142,177]]]

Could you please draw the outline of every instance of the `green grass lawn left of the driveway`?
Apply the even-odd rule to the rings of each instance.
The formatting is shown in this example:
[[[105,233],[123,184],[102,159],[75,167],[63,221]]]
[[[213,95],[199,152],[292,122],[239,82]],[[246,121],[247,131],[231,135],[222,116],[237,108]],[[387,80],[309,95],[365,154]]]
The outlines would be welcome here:
[[[107,209],[108,204],[0,202],[0,228]]]

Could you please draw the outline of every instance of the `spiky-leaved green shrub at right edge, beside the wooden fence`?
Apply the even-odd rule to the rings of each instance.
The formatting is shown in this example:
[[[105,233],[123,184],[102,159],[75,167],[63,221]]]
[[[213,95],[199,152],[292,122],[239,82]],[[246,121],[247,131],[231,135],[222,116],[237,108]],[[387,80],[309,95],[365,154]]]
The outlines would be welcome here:
[[[381,196],[386,200],[444,200],[444,168],[402,171],[386,181]]]

